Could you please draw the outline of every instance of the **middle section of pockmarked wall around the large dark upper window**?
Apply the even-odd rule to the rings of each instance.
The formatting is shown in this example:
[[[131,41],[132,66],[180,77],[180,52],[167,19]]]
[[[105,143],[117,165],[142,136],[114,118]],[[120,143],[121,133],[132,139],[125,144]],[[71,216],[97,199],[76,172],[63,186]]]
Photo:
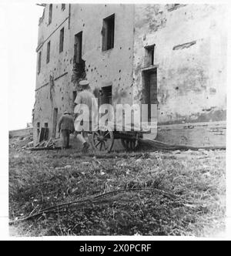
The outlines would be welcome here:
[[[72,5],[71,49],[82,31],[86,78],[97,95],[112,86],[112,103],[132,103],[133,5]],[[102,51],[102,20],[115,14],[114,47]],[[73,52],[72,52],[73,55]]]

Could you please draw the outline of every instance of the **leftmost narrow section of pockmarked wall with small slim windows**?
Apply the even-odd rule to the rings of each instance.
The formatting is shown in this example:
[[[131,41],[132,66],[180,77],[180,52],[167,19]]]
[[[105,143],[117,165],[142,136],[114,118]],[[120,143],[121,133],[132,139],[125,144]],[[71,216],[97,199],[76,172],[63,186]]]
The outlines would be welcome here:
[[[64,29],[63,51],[59,52],[60,30]],[[69,49],[69,5],[62,10],[61,5],[52,5],[52,22],[49,24],[49,5],[44,8],[44,15],[39,21],[37,51],[37,76],[34,106],[34,142],[37,142],[37,125],[49,126],[52,136],[53,111],[58,108],[58,117],[64,109],[71,110],[72,83]],[[50,56],[47,62],[47,45],[50,42]],[[41,69],[39,70],[39,52]]]

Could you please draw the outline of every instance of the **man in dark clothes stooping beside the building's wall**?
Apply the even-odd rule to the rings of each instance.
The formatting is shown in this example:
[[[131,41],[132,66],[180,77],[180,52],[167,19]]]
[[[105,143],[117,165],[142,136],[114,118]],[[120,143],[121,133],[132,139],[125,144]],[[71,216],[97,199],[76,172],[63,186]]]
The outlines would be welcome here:
[[[65,111],[59,119],[59,135],[62,134],[62,148],[69,148],[70,133],[73,133],[74,120],[68,111]]]

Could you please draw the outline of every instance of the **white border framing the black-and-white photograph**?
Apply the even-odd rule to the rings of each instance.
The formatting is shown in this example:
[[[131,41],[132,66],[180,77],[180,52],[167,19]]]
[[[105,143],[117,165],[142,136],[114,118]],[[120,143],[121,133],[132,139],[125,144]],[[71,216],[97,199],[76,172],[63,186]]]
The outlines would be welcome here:
[[[230,109],[231,109],[231,103],[229,101],[229,96],[231,93],[230,89],[230,72],[231,65],[230,65],[230,57],[231,57],[231,38],[229,33],[229,39],[228,39],[228,66],[227,66],[227,149],[226,149],[226,203],[227,203],[227,229],[226,229],[226,237],[149,237],[149,236],[79,236],[79,237],[9,237],[8,236],[8,127],[5,123],[8,123],[8,114],[5,109],[8,109],[8,52],[7,52],[7,10],[6,6],[12,5],[14,3],[37,3],[34,0],[11,0],[11,1],[2,1],[0,3],[0,30],[3,31],[3,37],[2,39],[6,40],[0,40],[0,50],[1,50],[1,58],[0,58],[0,70],[1,70],[1,93],[0,93],[0,107],[2,109],[2,122],[1,122],[1,153],[0,153],[0,159],[1,159],[1,170],[0,170],[0,238],[2,240],[44,240],[44,241],[50,241],[50,240],[58,240],[58,241],[65,241],[65,240],[73,240],[73,241],[91,241],[91,240],[97,240],[97,241],[122,241],[122,240],[138,240],[138,241],[156,241],[156,240],[171,240],[171,241],[178,241],[178,240],[199,240],[199,241],[206,241],[206,240],[231,240],[231,176],[230,176],[230,145],[229,141],[231,141],[230,137],[230,126],[231,126],[231,119],[230,119]],[[49,1],[43,1],[44,3],[49,3]],[[227,20],[227,28],[229,29],[229,24],[231,24],[230,16],[230,3],[229,0],[226,1],[146,1],[142,3],[159,3],[159,4],[166,4],[166,3],[186,3],[186,4],[226,4],[228,8],[228,20]],[[57,0],[55,3],[63,3],[63,1]],[[95,3],[94,1],[69,1],[68,3]],[[140,4],[139,1],[98,1],[97,3],[123,3],[123,4]],[[39,8],[39,6],[38,6]],[[18,14],[20,15],[20,14]],[[2,18],[3,17],[3,18]],[[3,41],[3,45],[2,45]],[[6,97],[7,96],[7,97]]]

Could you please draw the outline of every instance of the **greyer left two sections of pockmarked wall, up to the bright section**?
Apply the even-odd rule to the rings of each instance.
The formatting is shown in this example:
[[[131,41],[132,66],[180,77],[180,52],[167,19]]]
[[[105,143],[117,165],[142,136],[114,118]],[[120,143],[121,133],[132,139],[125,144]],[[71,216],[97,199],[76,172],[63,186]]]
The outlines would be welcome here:
[[[102,51],[102,22],[115,15],[114,47]],[[85,77],[95,96],[104,86],[112,86],[112,103],[132,103],[133,58],[133,5],[52,5],[52,22],[49,24],[49,5],[39,24],[37,79],[34,106],[34,141],[38,140],[37,125],[54,129],[54,109],[57,119],[65,110],[73,111],[72,83],[75,35],[82,32],[82,59]],[[63,51],[59,52],[60,30],[64,28]],[[47,44],[50,41],[50,60]],[[41,71],[39,52],[42,54]],[[56,129],[57,130],[57,129]]]

